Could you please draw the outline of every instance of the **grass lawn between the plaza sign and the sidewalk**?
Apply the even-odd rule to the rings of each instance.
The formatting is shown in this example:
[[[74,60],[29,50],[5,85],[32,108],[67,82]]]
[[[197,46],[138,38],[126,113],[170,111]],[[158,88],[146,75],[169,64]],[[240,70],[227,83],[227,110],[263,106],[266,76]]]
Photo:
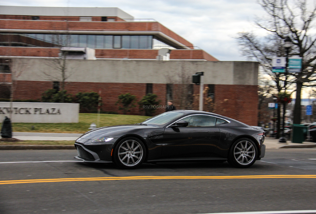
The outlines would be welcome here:
[[[134,124],[146,120],[148,116],[100,114],[99,127]],[[97,124],[97,114],[79,113],[78,123],[12,123],[12,132],[42,133],[85,133],[91,123]],[[32,126],[34,128],[32,128]]]

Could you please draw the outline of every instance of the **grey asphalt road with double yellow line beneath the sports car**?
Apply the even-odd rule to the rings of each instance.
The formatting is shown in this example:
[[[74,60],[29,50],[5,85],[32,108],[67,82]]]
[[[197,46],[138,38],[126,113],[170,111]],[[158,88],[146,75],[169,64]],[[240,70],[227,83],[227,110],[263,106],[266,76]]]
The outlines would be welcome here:
[[[75,150],[0,151],[0,214],[316,210],[316,149],[268,149],[247,169],[191,162],[122,170],[78,162],[76,155]]]

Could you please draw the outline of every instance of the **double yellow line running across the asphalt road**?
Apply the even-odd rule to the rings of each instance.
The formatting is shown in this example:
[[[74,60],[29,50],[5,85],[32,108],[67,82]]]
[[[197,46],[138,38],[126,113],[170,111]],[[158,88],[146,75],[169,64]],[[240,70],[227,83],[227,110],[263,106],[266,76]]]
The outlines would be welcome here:
[[[241,175],[241,176],[130,176],[130,177],[90,177],[90,178],[57,178],[7,180],[0,184],[46,183],[69,181],[106,181],[106,180],[154,180],[154,179],[255,179],[255,178],[316,178],[316,175]]]

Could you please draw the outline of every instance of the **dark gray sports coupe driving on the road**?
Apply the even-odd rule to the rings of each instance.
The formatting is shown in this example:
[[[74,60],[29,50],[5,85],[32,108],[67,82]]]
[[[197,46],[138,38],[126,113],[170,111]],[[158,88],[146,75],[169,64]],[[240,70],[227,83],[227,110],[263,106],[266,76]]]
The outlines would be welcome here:
[[[136,168],[143,162],[217,160],[249,167],[265,154],[264,130],[218,114],[174,110],[142,123],[94,129],[76,140],[76,159]]]

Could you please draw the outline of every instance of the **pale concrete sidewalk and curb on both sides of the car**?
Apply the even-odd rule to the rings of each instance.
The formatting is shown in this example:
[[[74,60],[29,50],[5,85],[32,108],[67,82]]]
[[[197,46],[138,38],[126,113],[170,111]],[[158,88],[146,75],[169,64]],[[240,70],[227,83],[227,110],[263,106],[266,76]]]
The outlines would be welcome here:
[[[18,140],[51,140],[51,141],[75,141],[81,136],[81,134],[69,134],[69,133],[33,133],[33,132],[13,132],[12,137]],[[266,149],[291,149],[291,148],[316,148],[316,143],[303,142],[303,143],[279,143],[279,139],[266,137],[264,140]],[[8,145],[1,146],[0,150],[23,150],[23,149],[75,149],[75,146],[34,146],[34,145]]]

